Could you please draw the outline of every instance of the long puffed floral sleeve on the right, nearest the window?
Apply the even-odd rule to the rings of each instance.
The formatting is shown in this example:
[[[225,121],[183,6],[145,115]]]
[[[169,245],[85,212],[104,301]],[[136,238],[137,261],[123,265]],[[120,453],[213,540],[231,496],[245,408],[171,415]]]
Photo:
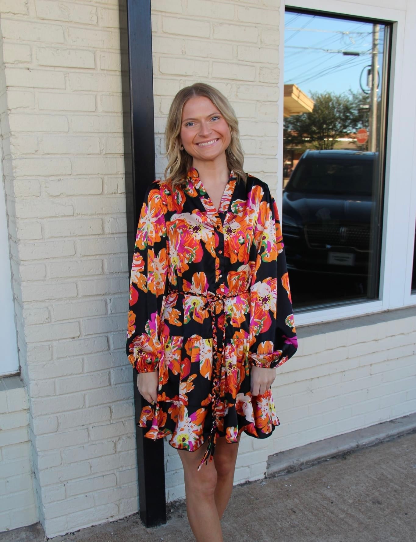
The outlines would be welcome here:
[[[297,337],[277,205],[268,189],[259,203],[254,241],[249,360],[258,367],[273,368],[293,356]]]

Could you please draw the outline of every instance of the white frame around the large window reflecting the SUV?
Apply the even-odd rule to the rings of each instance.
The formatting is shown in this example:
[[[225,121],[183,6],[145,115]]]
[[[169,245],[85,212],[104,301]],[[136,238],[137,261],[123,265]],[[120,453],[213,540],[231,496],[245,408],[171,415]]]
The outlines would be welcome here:
[[[338,307],[295,311],[297,325],[351,318],[388,309],[416,305],[411,294],[414,224],[416,219],[416,100],[409,103],[409,89],[416,86],[416,3],[396,0],[398,9],[387,7],[389,0],[291,0],[290,8],[347,15],[393,23],[392,57],[387,111],[386,177],[381,239],[380,292],[374,301],[352,302]],[[407,5],[406,5],[407,4]],[[279,65],[284,66],[284,6],[279,24],[281,47]],[[412,73],[413,72],[413,73]],[[283,73],[279,95],[279,118],[283,119]],[[407,93],[407,96],[406,96]],[[406,101],[407,98],[407,101]],[[278,156],[283,156],[283,122],[279,126]],[[278,204],[282,205],[283,168],[278,170]]]

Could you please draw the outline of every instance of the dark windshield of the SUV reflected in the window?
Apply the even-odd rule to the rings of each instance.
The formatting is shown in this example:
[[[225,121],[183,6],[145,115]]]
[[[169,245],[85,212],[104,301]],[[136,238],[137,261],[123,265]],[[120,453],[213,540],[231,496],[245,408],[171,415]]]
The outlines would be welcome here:
[[[301,160],[285,191],[371,196],[373,160]]]

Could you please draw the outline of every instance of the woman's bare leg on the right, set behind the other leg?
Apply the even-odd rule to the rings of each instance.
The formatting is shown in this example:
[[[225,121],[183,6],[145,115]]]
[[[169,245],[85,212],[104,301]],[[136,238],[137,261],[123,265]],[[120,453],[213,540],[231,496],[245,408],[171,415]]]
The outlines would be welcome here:
[[[230,500],[239,442],[239,437],[236,444],[227,443],[225,437],[217,438],[214,453],[214,464],[217,470],[217,486],[214,492],[214,499],[219,519],[222,518],[228,501]]]

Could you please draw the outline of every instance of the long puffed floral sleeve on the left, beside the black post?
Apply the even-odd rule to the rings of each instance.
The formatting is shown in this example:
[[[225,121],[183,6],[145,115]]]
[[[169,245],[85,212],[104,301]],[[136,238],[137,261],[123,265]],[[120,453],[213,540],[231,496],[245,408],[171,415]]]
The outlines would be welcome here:
[[[159,327],[167,287],[165,206],[152,183],[141,208],[133,254],[126,353],[135,370],[158,370]]]

